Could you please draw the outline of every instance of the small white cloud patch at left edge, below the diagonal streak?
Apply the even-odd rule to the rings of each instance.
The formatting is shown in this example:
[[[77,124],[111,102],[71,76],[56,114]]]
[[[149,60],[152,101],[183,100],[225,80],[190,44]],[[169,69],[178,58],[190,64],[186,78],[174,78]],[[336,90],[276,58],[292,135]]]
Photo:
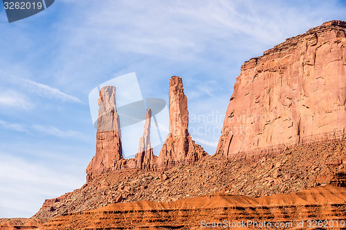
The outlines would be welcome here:
[[[1,90],[0,106],[29,110],[33,108],[33,103],[30,102],[30,99],[26,95],[16,90]]]

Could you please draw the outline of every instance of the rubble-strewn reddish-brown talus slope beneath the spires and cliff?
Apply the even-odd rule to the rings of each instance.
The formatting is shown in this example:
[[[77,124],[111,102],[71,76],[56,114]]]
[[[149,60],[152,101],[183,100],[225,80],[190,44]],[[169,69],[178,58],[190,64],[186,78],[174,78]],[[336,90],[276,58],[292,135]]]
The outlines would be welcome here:
[[[258,162],[215,155],[164,173],[132,170],[104,175],[72,193],[46,200],[34,218],[54,218],[118,202],[167,202],[217,192],[253,198],[293,193],[329,184],[334,172],[345,170],[346,140],[291,146]]]

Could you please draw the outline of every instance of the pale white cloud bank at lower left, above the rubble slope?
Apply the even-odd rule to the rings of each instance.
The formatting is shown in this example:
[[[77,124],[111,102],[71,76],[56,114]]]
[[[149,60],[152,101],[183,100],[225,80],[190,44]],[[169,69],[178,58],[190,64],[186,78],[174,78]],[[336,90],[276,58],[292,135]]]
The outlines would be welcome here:
[[[51,169],[50,163],[28,162],[11,153],[0,151],[0,157],[1,218],[30,218],[46,198],[72,191],[84,181],[84,173],[79,172],[81,167],[78,165],[56,171]],[[69,165],[69,162],[65,164]]]

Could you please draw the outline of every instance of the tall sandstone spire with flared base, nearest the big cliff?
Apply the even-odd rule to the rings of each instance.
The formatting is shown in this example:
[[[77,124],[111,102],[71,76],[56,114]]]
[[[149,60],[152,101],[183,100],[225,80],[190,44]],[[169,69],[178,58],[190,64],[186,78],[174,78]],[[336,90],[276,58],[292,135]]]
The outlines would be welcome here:
[[[180,77],[170,79],[170,134],[158,155],[157,166],[161,170],[178,164],[190,164],[208,155],[203,148],[194,143],[188,132],[188,99],[184,95],[183,81]]]

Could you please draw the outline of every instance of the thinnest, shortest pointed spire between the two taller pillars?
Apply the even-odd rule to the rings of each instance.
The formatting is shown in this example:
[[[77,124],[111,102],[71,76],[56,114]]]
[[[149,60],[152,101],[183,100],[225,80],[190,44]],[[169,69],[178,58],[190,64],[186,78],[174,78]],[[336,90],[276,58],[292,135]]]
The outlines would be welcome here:
[[[156,156],[152,151],[150,144],[150,126],[152,122],[152,110],[147,109],[147,116],[145,119],[143,137],[140,137],[138,153],[136,154],[136,168],[137,169],[153,169],[156,164]]]

